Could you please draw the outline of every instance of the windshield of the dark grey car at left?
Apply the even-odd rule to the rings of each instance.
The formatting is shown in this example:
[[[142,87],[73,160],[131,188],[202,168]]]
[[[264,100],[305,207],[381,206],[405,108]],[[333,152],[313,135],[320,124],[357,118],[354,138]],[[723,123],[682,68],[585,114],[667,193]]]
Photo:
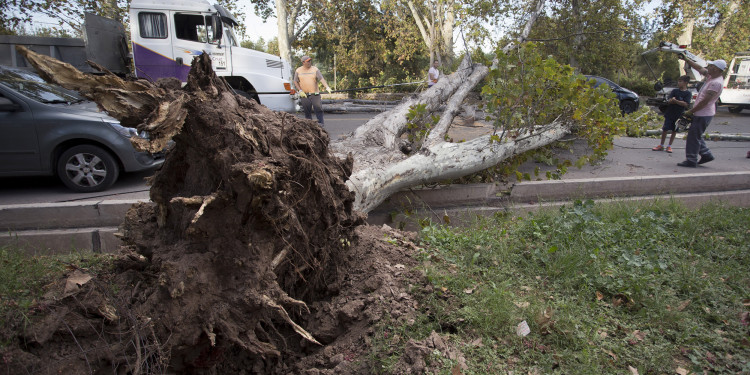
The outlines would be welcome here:
[[[33,72],[0,69],[0,83],[42,103],[71,104],[83,101],[74,91],[46,83]]]

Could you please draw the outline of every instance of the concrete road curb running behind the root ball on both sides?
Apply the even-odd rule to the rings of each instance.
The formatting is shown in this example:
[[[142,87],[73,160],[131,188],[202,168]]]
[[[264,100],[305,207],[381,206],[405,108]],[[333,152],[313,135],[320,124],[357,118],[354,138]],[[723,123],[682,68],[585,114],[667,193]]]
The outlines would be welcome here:
[[[404,226],[418,217],[438,221],[448,217],[451,224],[460,224],[476,215],[525,213],[558,207],[576,199],[598,202],[674,199],[692,208],[708,202],[750,207],[750,172],[439,185],[395,194],[370,212],[368,222]],[[148,201],[0,206],[4,232],[0,234],[0,246],[17,246],[30,254],[114,252],[120,246],[117,227],[127,210],[138,202]]]

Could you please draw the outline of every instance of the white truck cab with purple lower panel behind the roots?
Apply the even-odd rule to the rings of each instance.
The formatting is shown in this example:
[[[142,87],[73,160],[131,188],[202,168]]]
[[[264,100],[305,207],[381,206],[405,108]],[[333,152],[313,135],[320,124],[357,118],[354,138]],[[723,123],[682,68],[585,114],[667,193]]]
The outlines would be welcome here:
[[[195,56],[209,54],[216,74],[240,95],[266,107],[294,112],[296,95],[289,62],[242,48],[234,17],[205,0],[133,0],[130,36],[135,74],[156,81],[187,81]]]

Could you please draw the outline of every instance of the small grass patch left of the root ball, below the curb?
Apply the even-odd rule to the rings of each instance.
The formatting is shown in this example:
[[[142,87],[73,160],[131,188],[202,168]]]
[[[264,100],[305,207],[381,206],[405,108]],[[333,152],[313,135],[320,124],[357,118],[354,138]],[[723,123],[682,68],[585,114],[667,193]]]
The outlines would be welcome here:
[[[47,286],[80,268],[89,273],[109,267],[112,255],[71,252],[32,256],[13,246],[0,246],[0,348],[28,326],[33,315],[45,309]]]

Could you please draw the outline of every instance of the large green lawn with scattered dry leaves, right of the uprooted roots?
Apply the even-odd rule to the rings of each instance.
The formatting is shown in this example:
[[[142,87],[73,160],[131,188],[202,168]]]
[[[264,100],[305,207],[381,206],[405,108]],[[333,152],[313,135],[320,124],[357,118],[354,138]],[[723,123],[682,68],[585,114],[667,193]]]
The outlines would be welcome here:
[[[424,227],[432,288],[413,291],[415,324],[377,331],[374,367],[387,373],[409,339],[434,330],[464,353],[464,374],[748,374],[748,223],[743,208],[589,201]],[[524,320],[531,334],[519,337]],[[382,336],[394,331],[395,344]],[[451,373],[455,362],[433,357]]]

